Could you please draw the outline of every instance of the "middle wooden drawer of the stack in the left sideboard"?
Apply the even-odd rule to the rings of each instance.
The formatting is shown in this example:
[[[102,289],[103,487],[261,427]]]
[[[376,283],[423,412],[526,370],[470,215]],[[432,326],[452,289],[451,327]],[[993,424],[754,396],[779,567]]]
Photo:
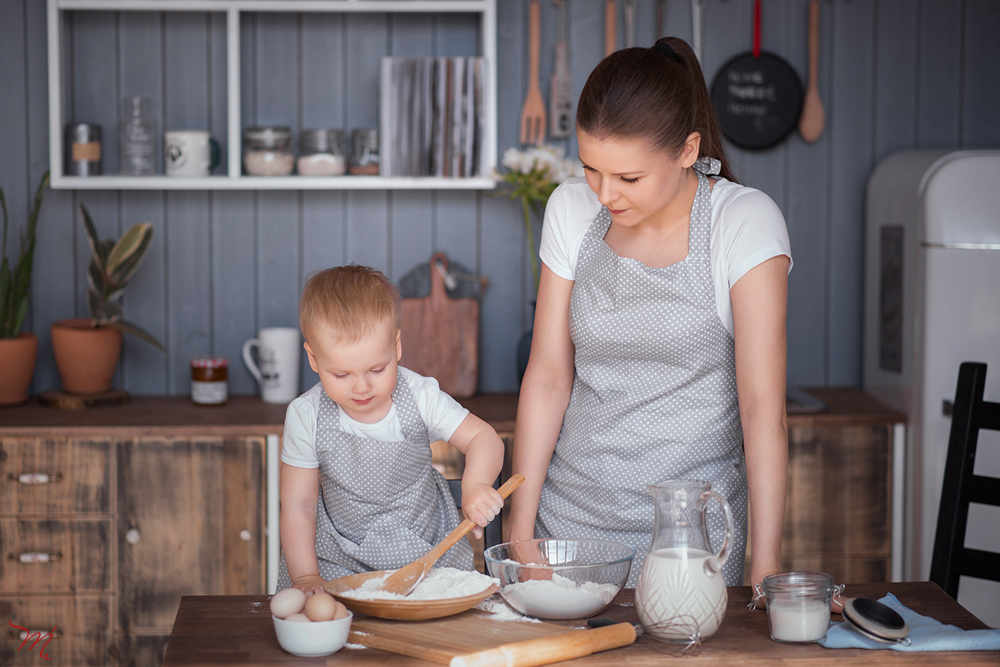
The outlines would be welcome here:
[[[0,545],[3,593],[110,590],[109,519],[0,519]]]

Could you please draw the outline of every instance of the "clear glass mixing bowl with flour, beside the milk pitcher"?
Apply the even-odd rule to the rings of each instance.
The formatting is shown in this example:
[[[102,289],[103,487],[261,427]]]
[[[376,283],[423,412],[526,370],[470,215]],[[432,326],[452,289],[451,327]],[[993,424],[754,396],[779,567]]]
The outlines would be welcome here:
[[[596,616],[621,592],[635,549],[612,540],[522,540],[483,554],[500,595],[518,612],[569,620]]]

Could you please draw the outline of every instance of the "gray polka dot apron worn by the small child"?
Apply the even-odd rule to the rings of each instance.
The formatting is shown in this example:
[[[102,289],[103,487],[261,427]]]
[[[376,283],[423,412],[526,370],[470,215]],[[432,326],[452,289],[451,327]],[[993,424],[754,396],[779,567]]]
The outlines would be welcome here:
[[[448,482],[431,466],[427,427],[401,373],[392,402],[404,440],[380,442],[341,431],[340,406],[320,392],[316,556],[319,574],[327,581],[402,567],[430,551],[459,523]],[[460,540],[437,564],[471,570],[472,547]],[[282,555],[278,590],[291,585]]]

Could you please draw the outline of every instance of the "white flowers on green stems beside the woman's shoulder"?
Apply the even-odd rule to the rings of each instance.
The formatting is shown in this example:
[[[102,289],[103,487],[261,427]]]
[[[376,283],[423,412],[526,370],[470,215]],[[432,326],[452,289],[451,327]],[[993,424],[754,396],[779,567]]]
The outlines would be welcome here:
[[[570,176],[582,176],[583,170],[575,160],[563,159],[561,148],[544,144],[524,151],[508,148],[504,151],[501,165],[507,167],[507,171],[495,172],[496,179],[509,186],[508,196],[511,199],[521,200],[528,256],[531,257],[531,276],[534,278],[537,294],[539,273],[531,214],[534,212],[541,216],[552,191]]]

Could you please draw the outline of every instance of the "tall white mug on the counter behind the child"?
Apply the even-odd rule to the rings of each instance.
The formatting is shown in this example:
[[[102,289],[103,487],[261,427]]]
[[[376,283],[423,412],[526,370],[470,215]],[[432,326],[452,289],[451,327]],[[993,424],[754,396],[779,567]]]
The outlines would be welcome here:
[[[252,350],[257,348],[257,362]],[[243,344],[243,362],[260,385],[265,403],[288,403],[299,395],[299,330],[290,327],[261,329],[257,338]]]

